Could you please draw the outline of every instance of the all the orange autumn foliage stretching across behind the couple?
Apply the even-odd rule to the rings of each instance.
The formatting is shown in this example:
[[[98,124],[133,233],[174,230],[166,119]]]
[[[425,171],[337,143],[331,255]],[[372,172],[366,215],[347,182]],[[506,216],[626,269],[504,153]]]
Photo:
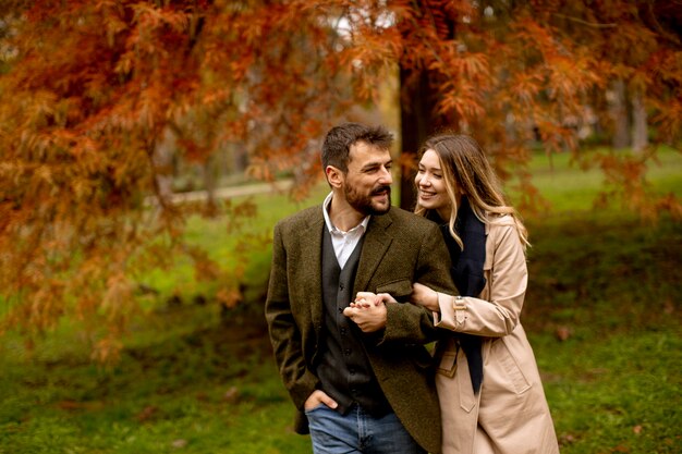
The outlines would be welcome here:
[[[504,177],[516,173],[522,204],[532,206],[540,197],[523,165],[528,144],[539,138],[547,152],[577,156],[575,125],[586,121],[586,106],[601,109],[595,94],[617,71],[573,29],[618,21],[600,17],[598,7],[608,8],[599,2],[2,4],[0,284],[8,310],[0,328],[33,332],[75,316],[92,327],[100,358],[120,348],[138,278],[179,255],[220,282],[223,304],[238,298],[243,270],[226,270],[183,241],[186,216],[205,207],[172,203],[173,156],[204,164],[222,147],[242,147],[252,177],[293,172],[292,196],[302,196],[321,175],[324,132],[353,106],[376,102],[398,73],[406,152],[437,127],[467,132]],[[636,81],[646,87],[650,127],[677,144],[682,59],[677,46],[656,49]],[[412,158],[402,162],[407,170]],[[628,162],[601,161],[621,192],[637,193],[618,180]],[[679,207],[674,198],[658,204]],[[211,211],[230,218],[253,207],[214,200]]]

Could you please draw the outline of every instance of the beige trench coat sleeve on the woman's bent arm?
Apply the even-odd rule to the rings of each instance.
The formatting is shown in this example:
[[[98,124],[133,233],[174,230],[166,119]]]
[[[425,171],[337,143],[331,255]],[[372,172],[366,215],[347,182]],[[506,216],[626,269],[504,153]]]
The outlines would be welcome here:
[[[490,225],[484,272],[488,285],[479,297],[438,293],[435,324],[448,330],[500,338],[516,328],[528,281],[523,245],[511,219]]]

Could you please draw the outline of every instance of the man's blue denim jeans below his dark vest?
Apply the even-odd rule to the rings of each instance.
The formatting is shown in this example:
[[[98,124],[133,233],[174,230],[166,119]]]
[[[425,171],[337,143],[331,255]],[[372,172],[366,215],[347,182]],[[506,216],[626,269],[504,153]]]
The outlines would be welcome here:
[[[321,404],[306,410],[315,454],[425,454],[394,413],[373,418],[358,405],[344,416]]]

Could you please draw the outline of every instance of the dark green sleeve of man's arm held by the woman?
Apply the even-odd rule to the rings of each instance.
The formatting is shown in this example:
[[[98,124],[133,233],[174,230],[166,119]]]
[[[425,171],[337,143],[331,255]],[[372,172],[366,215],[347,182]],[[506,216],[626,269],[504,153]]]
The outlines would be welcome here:
[[[454,284],[450,277],[450,255],[436,224],[429,225],[421,238],[415,263],[414,282],[423,283],[440,292],[452,293]],[[386,341],[428,343],[436,340],[433,314],[412,304],[387,304]]]

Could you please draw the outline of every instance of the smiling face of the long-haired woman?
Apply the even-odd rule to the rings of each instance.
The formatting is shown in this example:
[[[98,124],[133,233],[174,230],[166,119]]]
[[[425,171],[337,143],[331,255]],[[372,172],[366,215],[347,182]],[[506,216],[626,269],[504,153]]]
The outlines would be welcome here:
[[[424,152],[414,183],[417,186],[417,204],[427,210],[437,210],[441,218],[448,219],[451,204],[436,151],[429,149]]]

